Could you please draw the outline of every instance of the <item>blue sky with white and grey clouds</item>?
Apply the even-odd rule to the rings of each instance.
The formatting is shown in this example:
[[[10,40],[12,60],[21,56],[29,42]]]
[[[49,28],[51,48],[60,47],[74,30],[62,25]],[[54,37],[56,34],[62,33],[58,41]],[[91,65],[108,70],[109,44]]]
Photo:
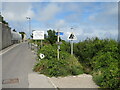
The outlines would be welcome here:
[[[2,2],[0,10],[12,29],[16,29],[18,32],[24,31],[27,35],[31,34],[32,30],[41,30],[47,33],[47,30],[54,29],[64,32],[64,35],[61,36],[64,40],[67,40],[71,32],[74,32],[76,35],[76,41],[85,40],[87,37],[112,38],[117,40],[118,3],[117,0],[110,1],[6,1]],[[31,18],[31,31],[29,31],[29,24],[26,17]],[[71,28],[73,29],[71,30]]]

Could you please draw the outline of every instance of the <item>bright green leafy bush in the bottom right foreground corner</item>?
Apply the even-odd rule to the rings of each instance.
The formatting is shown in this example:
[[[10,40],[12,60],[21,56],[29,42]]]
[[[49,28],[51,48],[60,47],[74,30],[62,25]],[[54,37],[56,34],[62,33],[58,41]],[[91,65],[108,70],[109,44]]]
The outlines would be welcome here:
[[[115,49],[114,49],[115,50]],[[114,51],[113,50],[113,51]],[[105,88],[118,88],[119,87],[119,68],[118,68],[118,54],[116,52],[99,52],[97,56],[95,56],[92,60],[93,65],[93,73],[101,71],[102,75],[94,75],[94,80],[101,87]],[[99,77],[101,79],[97,79]]]

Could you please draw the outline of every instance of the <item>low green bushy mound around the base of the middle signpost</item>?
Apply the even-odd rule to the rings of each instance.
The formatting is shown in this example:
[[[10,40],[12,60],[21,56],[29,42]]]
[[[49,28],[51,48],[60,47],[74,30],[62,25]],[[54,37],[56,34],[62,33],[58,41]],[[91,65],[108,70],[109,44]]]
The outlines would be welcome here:
[[[34,66],[34,71],[40,72],[47,76],[67,76],[82,74],[82,66],[77,58],[71,56],[65,51],[60,52],[60,60],[57,60],[57,48],[52,45],[44,46],[38,51],[39,54],[45,54],[45,58],[40,60]]]

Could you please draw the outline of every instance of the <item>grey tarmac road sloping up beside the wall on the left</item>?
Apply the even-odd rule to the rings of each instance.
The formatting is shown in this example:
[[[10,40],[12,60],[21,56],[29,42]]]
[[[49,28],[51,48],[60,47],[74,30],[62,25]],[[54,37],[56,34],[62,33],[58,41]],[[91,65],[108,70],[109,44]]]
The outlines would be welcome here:
[[[35,55],[27,43],[21,43],[2,55],[2,88],[28,88]]]

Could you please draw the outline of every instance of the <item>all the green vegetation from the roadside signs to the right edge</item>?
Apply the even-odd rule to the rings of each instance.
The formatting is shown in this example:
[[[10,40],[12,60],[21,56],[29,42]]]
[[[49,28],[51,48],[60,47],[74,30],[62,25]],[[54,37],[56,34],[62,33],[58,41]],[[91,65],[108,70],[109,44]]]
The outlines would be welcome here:
[[[100,87],[115,88],[120,86],[119,60],[120,43],[115,40],[87,38],[74,44],[74,55],[70,55],[70,43],[61,40],[60,60],[57,60],[57,45],[54,31],[49,31],[44,47],[38,51],[38,62],[34,71],[47,76],[67,76],[87,73],[93,75],[93,80]],[[53,39],[54,38],[54,39]],[[52,41],[53,40],[53,41]],[[45,58],[40,60],[39,54]],[[76,58],[77,57],[77,58]]]

